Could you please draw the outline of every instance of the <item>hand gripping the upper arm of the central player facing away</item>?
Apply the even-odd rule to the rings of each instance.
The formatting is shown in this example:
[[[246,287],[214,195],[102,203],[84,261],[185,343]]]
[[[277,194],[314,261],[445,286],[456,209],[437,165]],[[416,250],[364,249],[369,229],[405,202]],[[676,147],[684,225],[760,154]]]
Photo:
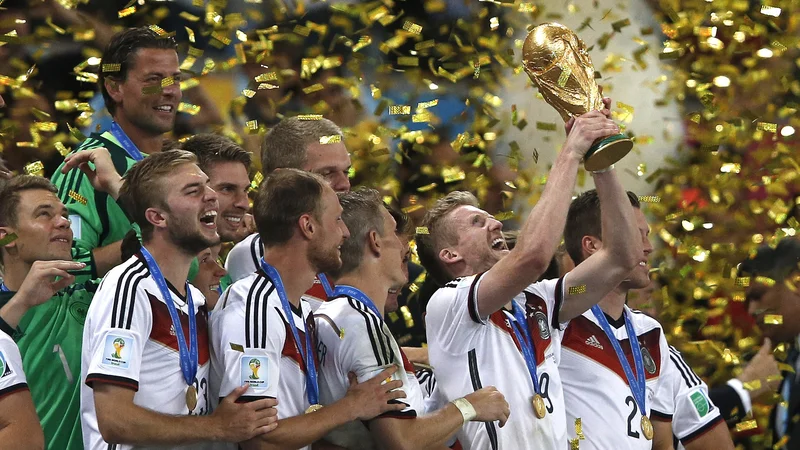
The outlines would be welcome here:
[[[403,387],[403,382],[400,380],[385,382],[395,372],[397,366],[392,366],[363,383],[358,382],[355,374],[348,374],[350,389],[340,401],[349,402],[350,410],[358,420],[369,420],[388,411],[402,411],[408,405],[400,402],[389,403],[389,401],[406,396],[405,392],[399,390]]]

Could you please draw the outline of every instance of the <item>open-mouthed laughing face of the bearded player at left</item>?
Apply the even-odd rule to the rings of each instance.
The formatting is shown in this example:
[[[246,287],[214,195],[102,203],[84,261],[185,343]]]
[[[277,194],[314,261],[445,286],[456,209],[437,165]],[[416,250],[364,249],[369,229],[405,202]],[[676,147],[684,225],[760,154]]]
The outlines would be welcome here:
[[[219,203],[206,174],[196,164],[183,164],[160,183],[167,208],[157,212],[166,220],[156,227],[166,228],[170,241],[188,254],[219,244]]]

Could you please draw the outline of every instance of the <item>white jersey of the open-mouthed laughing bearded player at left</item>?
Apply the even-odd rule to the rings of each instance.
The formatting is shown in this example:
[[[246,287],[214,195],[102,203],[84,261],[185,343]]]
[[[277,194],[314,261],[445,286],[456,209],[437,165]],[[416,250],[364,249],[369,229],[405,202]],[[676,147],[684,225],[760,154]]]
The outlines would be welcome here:
[[[169,285],[169,282],[167,282]],[[169,285],[171,298],[189,344],[186,298]],[[136,391],[133,402],[168,415],[204,415],[208,401],[208,313],[205,298],[189,285],[197,321],[198,369],[192,383],[198,392],[197,406],[186,405],[187,385],[181,372],[178,339],[161,291],[141,254],[111,269],[94,295],[83,330],[81,364],[81,427],[87,449],[112,448],[103,441],[97,426],[92,387],[110,383]],[[198,449],[206,444],[169,448]],[[124,450],[131,445],[117,445]],[[142,447],[136,447],[142,448]]]

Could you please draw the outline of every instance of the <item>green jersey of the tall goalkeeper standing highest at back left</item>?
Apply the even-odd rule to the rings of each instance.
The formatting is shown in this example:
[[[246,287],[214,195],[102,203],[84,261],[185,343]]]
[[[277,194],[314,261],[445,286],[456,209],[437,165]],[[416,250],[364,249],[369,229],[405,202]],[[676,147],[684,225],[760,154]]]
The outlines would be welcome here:
[[[109,132],[92,134],[74,150],[75,152],[105,147],[119,174],[125,174],[136,161]],[[83,283],[97,278],[92,250],[122,240],[131,230],[131,222],[116,200],[104,192],[95,191],[86,175],[79,169],[61,173],[63,163],[53,175],[58,197],[69,210],[78,253],[85,255],[77,262],[86,263],[82,271],[74,272],[75,282]],[[80,358],[79,358],[80,360]]]

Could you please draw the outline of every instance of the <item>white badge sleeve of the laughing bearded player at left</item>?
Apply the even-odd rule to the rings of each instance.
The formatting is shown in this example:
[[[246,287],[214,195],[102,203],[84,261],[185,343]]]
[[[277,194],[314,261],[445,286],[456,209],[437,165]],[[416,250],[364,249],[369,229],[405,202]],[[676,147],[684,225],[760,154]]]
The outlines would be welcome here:
[[[146,276],[139,274],[138,277]],[[115,283],[104,280],[92,299],[83,334],[83,351],[90,356],[84,382],[109,383],[139,389],[144,346],[153,327],[148,293],[136,287],[135,270]]]

